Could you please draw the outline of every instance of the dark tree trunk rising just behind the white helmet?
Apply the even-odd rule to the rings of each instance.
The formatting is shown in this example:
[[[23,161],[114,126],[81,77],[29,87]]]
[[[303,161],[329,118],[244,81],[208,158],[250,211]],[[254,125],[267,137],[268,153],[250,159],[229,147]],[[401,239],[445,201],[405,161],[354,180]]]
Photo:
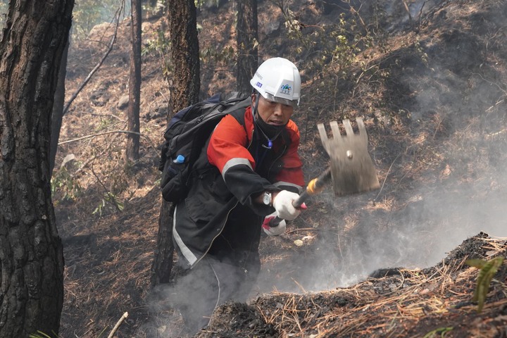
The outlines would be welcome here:
[[[251,92],[250,80],[258,65],[257,1],[237,0],[237,75],[239,92]]]

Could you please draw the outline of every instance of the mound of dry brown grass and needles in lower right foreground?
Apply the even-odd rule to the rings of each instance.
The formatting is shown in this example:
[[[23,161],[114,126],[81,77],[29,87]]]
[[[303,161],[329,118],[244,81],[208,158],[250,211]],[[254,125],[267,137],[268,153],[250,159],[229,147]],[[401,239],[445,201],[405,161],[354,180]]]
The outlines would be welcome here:
[[[507,324],[507,265],[493,280],[484,310],[477,313],[471,299],[478,270],[465,265],[465,259],[505,256],[507,239],[468,241],[463,250],[477,252],[466,252],[460,260],[451,253],[448,263],[434,268],[401,269],[332,292],[273,293],[253,306],[278,337],[437,337],[431,332],[446,327],[445,337],[502,337]]]

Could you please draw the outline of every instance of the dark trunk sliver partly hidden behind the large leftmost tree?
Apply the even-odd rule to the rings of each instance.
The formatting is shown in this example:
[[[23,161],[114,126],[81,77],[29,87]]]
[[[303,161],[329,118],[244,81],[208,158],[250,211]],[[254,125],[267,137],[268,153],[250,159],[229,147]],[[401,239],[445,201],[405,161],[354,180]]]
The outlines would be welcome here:
[[[63,104],[65,104],[65,76],[67,75],[67,56],[69,42],[65,44],[63,50],[60,70],[58,70],[58,84],[53,103],[53,112],[51,113],[51,146],[49,147],[49,173],[53,175],[53,169],[56,161],[56,151],[58,150],[58,139],[60,138],[61,124],[63,120]]]

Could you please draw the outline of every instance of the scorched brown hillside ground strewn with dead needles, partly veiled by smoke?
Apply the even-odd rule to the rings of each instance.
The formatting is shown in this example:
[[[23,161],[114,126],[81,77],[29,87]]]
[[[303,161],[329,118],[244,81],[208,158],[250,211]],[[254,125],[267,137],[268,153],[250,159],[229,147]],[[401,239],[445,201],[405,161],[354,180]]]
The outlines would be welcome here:
[[[220,54],[234,45],[232,2],[199,12],[199,42],[208,51],[203,97],[234,83],[234,62]],[[329,163],[316,124],[361,116],[382,187],[340,197],[325,189],[286,234],[263,237],[251,301],[221,306],[196,337],[507,337],[507,263],[481,312],[472,301],[479,270],[465,263],[507,254],[507,8],[495,0],[406,3],[410,15],[390,1],[377,8],[366,1],[358,15],[344,11],[357,23],[349,29],[375,38],[352,59],[323,54],[343,33],[332,26],[339,1],[289,4],[299,39],[287,37],[280,8],[259,4],[261,57],[292,58],[303,73],[294,120],[306,178]],[[163,18],[146,21],[144,43],[166,27]],[[112,32],[100,25],[73,44],[68,97]],[[125,20],[63,119],[56,163],[70,154],[75,160],[53,180],[65,256],[61,337],[105,337],[123,313],[116,337],[184,337],[170,293],[149,282],[170,96],[164,57],[144,55],[142,158],[125,163],[127,117],[118,102],[128,92],[129,32]]]

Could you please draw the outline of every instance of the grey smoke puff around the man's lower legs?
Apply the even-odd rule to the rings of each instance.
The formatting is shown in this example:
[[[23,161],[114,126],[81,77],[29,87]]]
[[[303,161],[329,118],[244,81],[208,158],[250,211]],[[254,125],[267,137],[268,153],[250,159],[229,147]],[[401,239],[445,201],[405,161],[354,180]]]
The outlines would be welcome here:
[[[252,285],[249,271],[227,258],[206,256],[192,270],[175,267],[173,275],[178,276],[174,283],[158,284],[149,296],[156,320],[145,325],[148,337],[193,335],[208,325],[217,304],[245,302]]]

